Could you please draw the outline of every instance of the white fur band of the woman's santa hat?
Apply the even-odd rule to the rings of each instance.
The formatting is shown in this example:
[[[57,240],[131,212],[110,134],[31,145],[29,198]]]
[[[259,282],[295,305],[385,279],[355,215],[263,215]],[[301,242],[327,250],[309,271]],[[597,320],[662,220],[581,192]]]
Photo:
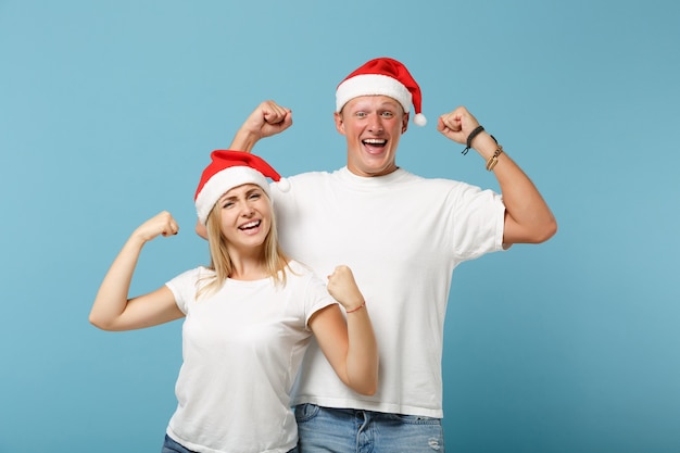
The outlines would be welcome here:
[[[210,178],[196,198],[196,212],[201,224],[205,225],[207,215],[223,194],[244,184],[260,186],[267,197],[272,198],[269,183],[262,173],[243,165],[225,168]]]

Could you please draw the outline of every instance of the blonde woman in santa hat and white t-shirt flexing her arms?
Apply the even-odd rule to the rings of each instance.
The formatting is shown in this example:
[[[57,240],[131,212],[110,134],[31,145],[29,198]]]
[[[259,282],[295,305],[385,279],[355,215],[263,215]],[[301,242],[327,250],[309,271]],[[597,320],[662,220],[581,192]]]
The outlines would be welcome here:
[[[104,330],[186,317],[164,452],[294,452],[290,391],[312,335],[343,382],[363,394],[376,390],[375,336],[351,270],[338,266],[326,289],[282,253],[266,177],[280,179],[262,159],[214,151],[194,199],[211,265],[128,299],[143,244],[178,231],[163,212],[133,232],[95,300],[90,322]]]

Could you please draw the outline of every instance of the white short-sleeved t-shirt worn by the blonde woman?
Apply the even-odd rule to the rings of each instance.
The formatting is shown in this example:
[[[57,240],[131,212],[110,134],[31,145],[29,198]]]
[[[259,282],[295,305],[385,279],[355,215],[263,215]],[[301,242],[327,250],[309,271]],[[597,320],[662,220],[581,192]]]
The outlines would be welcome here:
[[[197,452],[287,452],[298,442],[290,391],[312,331],[310,316],[336,303],[326,285],[291,262],[285,287],[227,279],[196,300],[205,267],[166,285],[185,313],[177,410],[167,435]]]

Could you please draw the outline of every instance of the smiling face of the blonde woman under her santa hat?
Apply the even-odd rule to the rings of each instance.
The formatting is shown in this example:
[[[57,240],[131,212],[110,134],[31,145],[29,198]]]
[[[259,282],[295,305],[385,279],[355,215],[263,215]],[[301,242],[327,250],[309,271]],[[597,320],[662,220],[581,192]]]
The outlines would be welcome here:
[[[235,187],[217,200],[216,206],[230,252],[259,251],[272,228],[272,207],[264,190],[254,184]]]

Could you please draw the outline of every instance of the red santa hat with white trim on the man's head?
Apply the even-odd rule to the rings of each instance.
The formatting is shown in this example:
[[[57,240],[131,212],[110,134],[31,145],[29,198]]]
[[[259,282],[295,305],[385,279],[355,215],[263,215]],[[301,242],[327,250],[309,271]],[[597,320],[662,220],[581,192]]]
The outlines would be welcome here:
[[[420,113],[420,87],[412,77],[406,66],[396,60],[379,58],[364,63],[344,80],[336,90],[336,112],[340,112],[348,101],[360,96],[389,96],[399,101],[404,112],[415,108],[413,122],[425,126],[427,119]]]

